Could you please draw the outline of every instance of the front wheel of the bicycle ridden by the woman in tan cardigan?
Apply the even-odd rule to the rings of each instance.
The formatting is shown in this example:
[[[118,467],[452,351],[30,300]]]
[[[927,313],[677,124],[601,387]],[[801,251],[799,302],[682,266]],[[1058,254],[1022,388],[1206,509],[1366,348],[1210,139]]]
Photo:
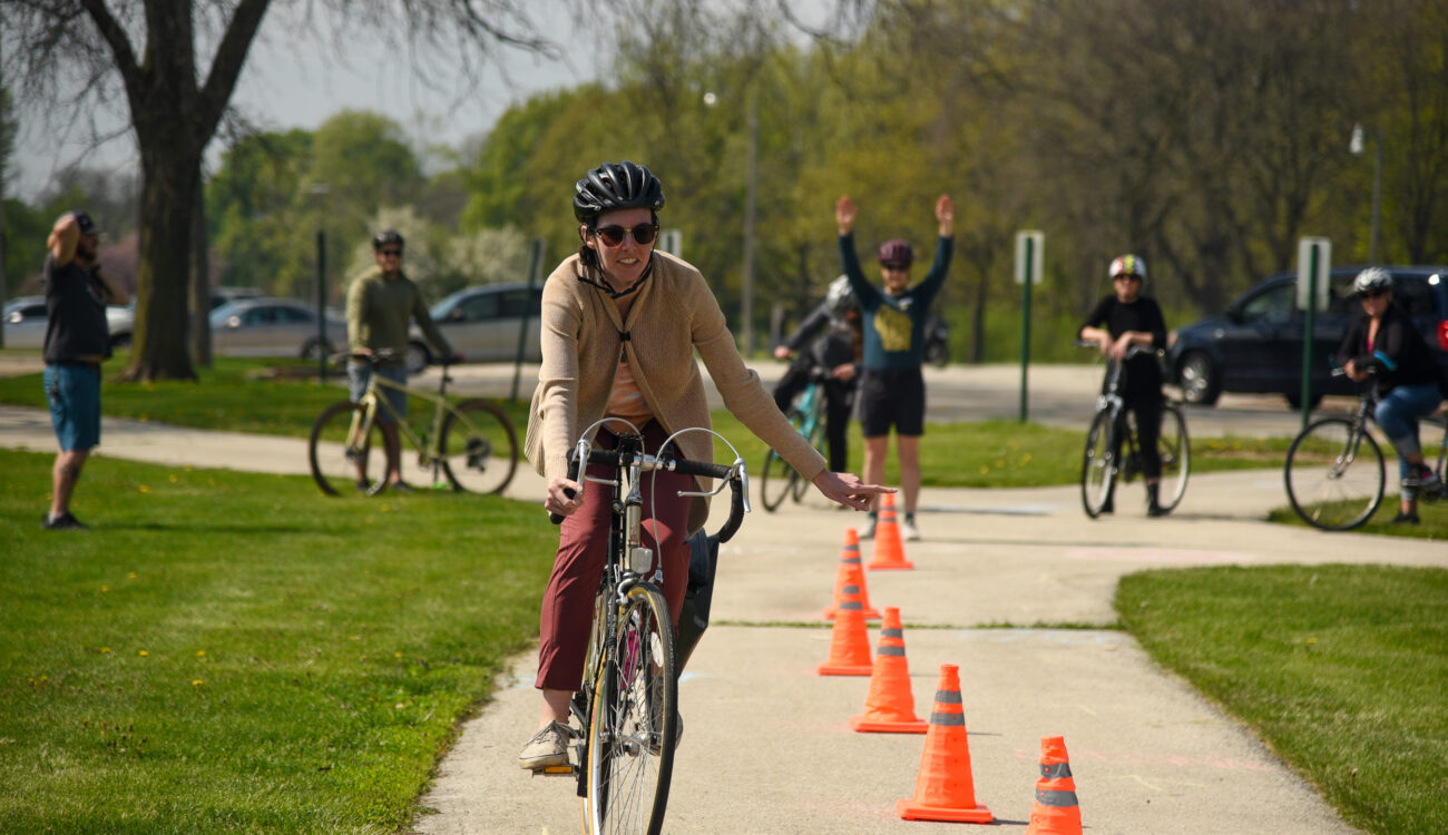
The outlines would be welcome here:
[[[659,835],[669,803],[678,698],[663,595],[630,589],[588,721],[588,823],[595,835]]]

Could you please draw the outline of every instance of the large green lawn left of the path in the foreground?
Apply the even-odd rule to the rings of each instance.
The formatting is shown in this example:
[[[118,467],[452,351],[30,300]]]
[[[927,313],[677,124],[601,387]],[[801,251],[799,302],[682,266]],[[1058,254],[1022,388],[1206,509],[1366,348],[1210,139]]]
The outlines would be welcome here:
[[[556,530],[491,496],[0,450],[0,832],[394,832],[537,634]]]

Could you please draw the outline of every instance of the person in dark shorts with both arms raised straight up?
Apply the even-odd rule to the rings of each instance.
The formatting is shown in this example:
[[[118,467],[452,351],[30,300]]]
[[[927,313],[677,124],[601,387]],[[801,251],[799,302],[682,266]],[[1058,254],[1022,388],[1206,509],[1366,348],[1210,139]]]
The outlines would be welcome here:
[[[901,463],[901,489],[905,492],[905,518],[901,534],[906,540],[919,538],[915,508],[919,504],[919,438],[925,434],[925,323],[930,305],[950,272],[950,256],[956,239],[956,204],[948,194],[935,201],[935,260],[925,281],[911,287],[909,268],[915,250],[904,240],[886,240],[876,252],[880,262],[883,289],[864,278],[854,252],[854,217],[857,210],[849,195],[834,204],[834,220],[840,232],[840,262],[850,279],[850,289],[864,317],[864,356],[857,395],[860,430],[864,433],[864,480],[885,478],[889,454],[891,427],[895,427],[895,452]],[[875,509],[860,528],[860,538],[875,535]]]

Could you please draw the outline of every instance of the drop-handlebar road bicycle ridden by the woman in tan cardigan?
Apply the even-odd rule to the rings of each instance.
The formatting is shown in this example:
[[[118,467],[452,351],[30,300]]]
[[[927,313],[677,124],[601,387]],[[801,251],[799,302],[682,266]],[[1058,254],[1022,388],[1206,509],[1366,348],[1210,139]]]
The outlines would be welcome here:
[[[595,450],[589,443],[604,423],[627,424],[631,431],[617,436],[613,450]],[[725,440],[711,430],[714,437]],[[692,462],[672,454],[669,436],[656,454],[643,449],[637,427],[620,418],[604,418],[584,431],[569,456],[569,479],[613,488],[613,525],[608,556],[594,599],[594,627],[584,661],[584,684],[569,703],[578,725],[569,766],[544,773],[576,774],[584,803],[584,823],[591,835],[657,835],[663,828],[678,741],[679,657],[669,605],[663,598],[663,569],[652,548],[641,546],[644,473],[673,472],[720,479],[714,491],[681,491],[681,496],[715,495],[727,483],[731,491],[730,517],[718,541],[727,543],[749,512],[749,473],[734,453],[733,465]],[[733,449],[733,446],[730,446]],[[611,478],[579,476],[581,462],[602,465]],[[582,467],[586,470],[586,465]],[[623,498],[620,498],[623,496]],[[562,517],[552,515],[555,524]]]

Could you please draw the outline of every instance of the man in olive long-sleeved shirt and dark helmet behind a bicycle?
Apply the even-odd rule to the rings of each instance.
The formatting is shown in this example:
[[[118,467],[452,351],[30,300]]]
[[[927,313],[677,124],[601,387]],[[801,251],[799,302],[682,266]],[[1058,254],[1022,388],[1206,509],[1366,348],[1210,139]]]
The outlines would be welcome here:
[[[453,350],[433,324],[421,291],[403,272],[403,236],[391,229],[374,234],[372,256],[376,259],[376,266],[359,275],[348,289],[348,343],[352,353],[369,355],[384,349],[395,352],[395,356],[379,365],[376,372],[382,379],[407,385],[404,352],[411,320],[417,320],[417,326],[423,329],[437,356],[453,356]],[[353,359],[348,363],[348,382],[353,401],[362,399],[371,378],[372,366],[365,360]],[[398,417],[407,414],[407,394],[387,386],[381,386],[381,391]],[[397,424],[385,408],[378,410],[376,423],[387,443],[387,486],[408,492],[411,486],[403,480]],[[359,460],[358,491],[366,492],[368,486],[366,460]]]

